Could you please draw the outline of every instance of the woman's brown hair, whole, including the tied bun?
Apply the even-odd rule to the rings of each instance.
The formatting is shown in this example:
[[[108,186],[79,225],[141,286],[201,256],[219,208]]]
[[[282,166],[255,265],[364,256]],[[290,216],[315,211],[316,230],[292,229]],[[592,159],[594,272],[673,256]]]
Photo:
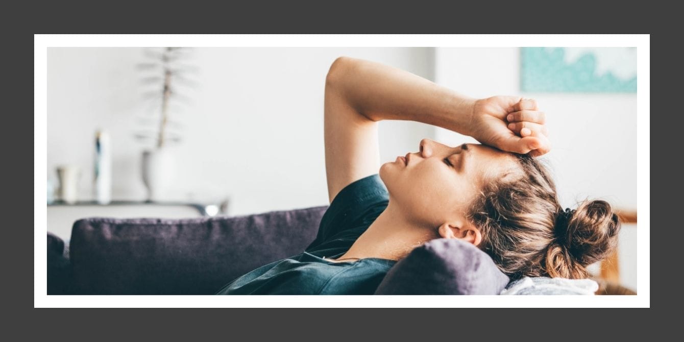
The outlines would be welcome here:
[[[488,183],[469,216],[482,233],[478,245],[512,278],[588,278],[586,267],[616,247],[620,220],[605,200],[565,211],[538,159],[516,155],[523,176]]]

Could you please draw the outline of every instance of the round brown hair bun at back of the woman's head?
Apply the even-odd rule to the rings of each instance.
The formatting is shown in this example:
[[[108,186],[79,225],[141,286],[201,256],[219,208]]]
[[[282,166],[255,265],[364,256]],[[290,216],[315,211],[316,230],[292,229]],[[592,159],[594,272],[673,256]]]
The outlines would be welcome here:
[[[557,244],[586,266],[605,259],[618,244],[620,220],[605,200],[586,200],[556,218]]]

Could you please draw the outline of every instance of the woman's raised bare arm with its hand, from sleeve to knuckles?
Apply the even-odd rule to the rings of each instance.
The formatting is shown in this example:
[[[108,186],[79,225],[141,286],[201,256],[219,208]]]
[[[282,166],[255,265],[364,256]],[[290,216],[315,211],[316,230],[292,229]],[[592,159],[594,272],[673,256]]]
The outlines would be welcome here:
[[[521,138],[508,129],[508,122],[505,122],[508,114],[523,109],[536,109],[536,103],[525,103],[517,96],[477,100],[404,70],[339,57],[330,66],[325,92],[326,176],[330,202],[346,185],[380,169],[377,126],[380,120],[433,124],[471,135],[492,146],[527,153],[538,147],[532,146],[532,142],[540,144],[536,137],[540,133],[536,131],[541,128],[523,124],[520,129],[533,128],[535,137],[530,133],[529,137]],[[527,121],[534,124],[535,120]],[[499,123],[501,127],[497,126]],[[539,123],[543,124],[543,120]],[[513,145],[514,142],[520,144],[521,140],[525,140],[524,148]]]

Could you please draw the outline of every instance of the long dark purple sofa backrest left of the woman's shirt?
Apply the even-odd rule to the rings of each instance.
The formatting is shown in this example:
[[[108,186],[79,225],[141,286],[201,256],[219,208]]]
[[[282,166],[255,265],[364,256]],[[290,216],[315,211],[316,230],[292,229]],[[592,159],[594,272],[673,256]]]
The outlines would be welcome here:
[[[70,239],[79,294],[213,294],[266,263],[298,254],[328,206],[239,217],[86,218]]]

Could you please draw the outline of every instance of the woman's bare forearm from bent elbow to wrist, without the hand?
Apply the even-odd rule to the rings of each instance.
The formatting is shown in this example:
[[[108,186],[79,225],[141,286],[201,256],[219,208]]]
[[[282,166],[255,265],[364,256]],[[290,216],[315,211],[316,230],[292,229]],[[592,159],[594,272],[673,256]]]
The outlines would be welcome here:
[[[370,120],[412,120],[469,134],[475,98],[404,70],[343,57],[334,62],[327,81]]]

